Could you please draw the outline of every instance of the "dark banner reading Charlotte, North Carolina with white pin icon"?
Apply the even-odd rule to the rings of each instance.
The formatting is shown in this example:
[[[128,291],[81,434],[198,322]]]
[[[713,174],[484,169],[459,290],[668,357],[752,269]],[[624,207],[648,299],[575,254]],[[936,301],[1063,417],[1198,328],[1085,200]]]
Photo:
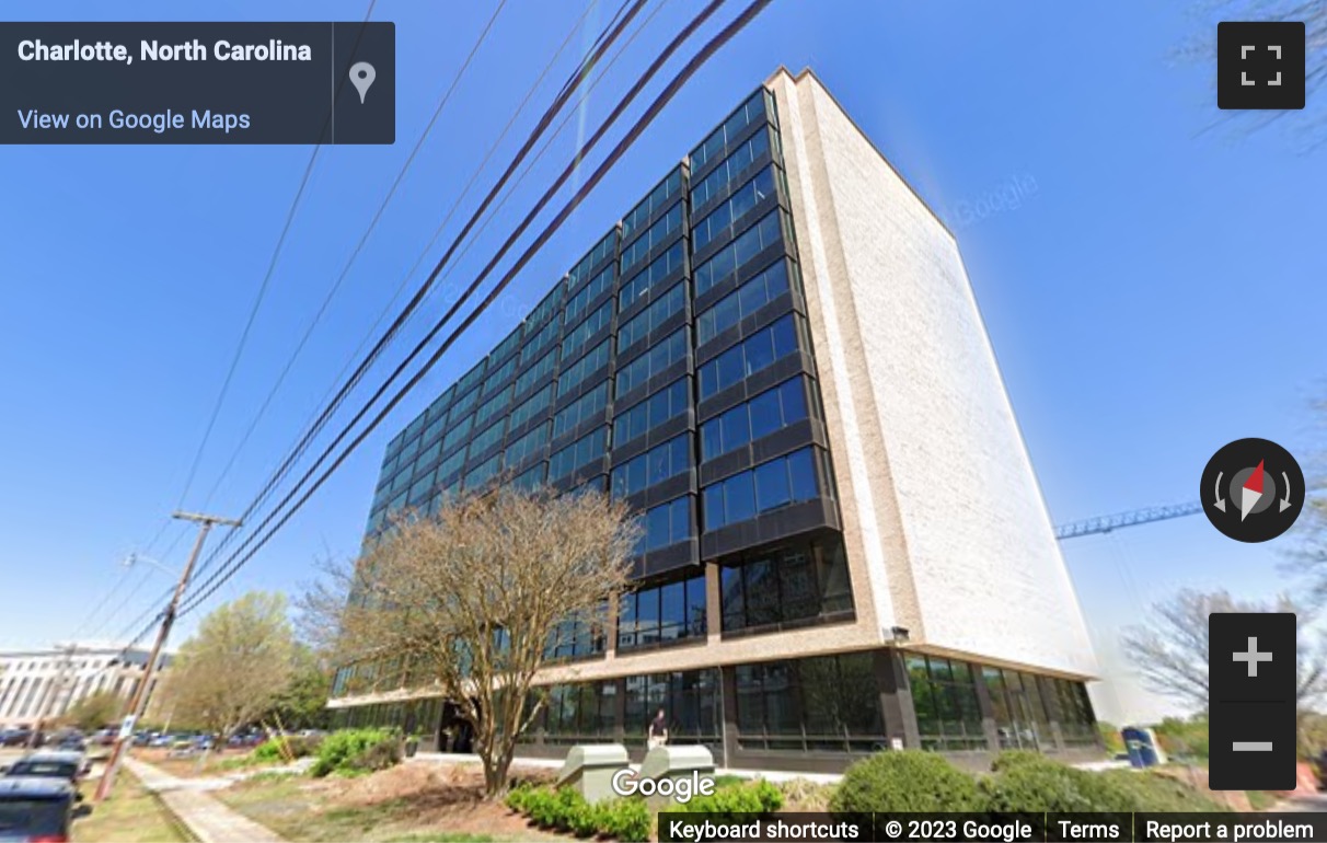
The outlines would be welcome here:
[[[0,23],[0,143],[393,143],[391,23]]]

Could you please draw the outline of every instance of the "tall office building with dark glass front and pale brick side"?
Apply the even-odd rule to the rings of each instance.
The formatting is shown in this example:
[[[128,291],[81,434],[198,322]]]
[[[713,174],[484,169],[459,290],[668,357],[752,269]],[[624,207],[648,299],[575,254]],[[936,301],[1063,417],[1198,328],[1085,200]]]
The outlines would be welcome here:
[[[811,73],[665,167],[390,442],[369,515],[499,477],[641,514],[632,593],[551,653],[520,751],[638,754],[664,708],[734,767],[1100,754],[1092,644],[953,232]],[[345,666],[330,706],[441,739],[429,685]]]

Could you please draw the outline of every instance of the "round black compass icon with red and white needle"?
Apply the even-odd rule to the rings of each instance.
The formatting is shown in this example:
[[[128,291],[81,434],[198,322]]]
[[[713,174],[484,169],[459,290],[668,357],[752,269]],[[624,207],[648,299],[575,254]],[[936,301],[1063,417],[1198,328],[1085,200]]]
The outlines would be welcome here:
[[[1238,542],[1275,539],[1304,506],[1304,473],[1290,451],[1267,439],[1237,439],[1202,470],[1202,511]]]

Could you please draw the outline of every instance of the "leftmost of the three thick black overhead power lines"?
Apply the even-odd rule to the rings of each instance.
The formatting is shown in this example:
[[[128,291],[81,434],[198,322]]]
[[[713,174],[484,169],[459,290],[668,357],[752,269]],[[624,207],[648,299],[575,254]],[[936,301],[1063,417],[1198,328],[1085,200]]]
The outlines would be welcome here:
[[[456,235],[456,238],[453,240],[451,246],[443,255],[442,260],[438,262],[438,268],[441,268],[442,264],[450,260],[451,255],[456,250],[456,246],[460,243],[462,239],[464,239],[470,234],[470,230],[474,227],[475,220],[487,210],[488,204],[492,202],[494,195],[503,189],[503,186],[511,178],[511,173],[522,163],[524,157],[528,154],[529,149],[544,133],[544,130],[552,122],[553,117],[556,117],[557,112],[561,110],[561,108],[567,104],[567,101],[571,97],[571,92],[576,89],[576,86],[580,84],[580,80],[585,78],[585,74],[598,62],[604,52],[606,52],[612,46],[612,44],[621,35],[622,29],[640,12],[640,9],[645,5],[645,3],[646,0],[624,0],[624,8],[626,9],[625,15],[620,9],[618,15],[614,16],[613,21],[610,21],[609,27],[604,31],[604,33],[601,33],[600,37],[596,38],[594,45],[585,54],[585,57],[583,57],[580,65],[571,74],[567,84],[563,85],[563,89],[559,92],[557,97],[555,97],[552,105],[549,105],[548,109],[544,112],[544,115],[540,118],[539,123],[527,137],[524,145],[518,151],[516,157],[512,159],[511,163],[508,163],[507,170],[498,179],[498,183],[490,189],[488,195],[480,203],[479,208],[471,215],[470,220],[462,228],[460,234]],[[336,397],[322,409],[322,412],[313,421],[313,423],[308,426],[307,431],[296,443],[296,446],[292,449],[292,451],[285,457],[285,459],[276,469],[276,471],[268,478],[267,483],[257,494],[257,497],[244,510],[244,512],[240,516],[243,520],[245,522],[249,520],[249,516],[260,506],[263,506],[263,503],[265,503],[267,499],[275,493],[276,486],[285,479],[285,477],[291,473],[291,470],[293,470],[296,461],[299,461],[304,455],[304,453],[312,445],[313,438],[322,431],[322,429],[330,421],[330,417],[341,408],[350,390],[353,390],[360,384],[360,381],[364,378],[369,368],[377,361],[378,356],[381,356],[384,349],[387,345],[390,345],[390,343],[395,339],[397,333],[401,331],[401,327],[405,324],[406,320],[409,320],[410,315],[419,307],[425,295],[434,284],[438,276],[438,268],[435,268],[425,280],[425,283],[415,291],[414,296],[407,303],[405,311],[397,316],[397,319],[387,328],[387,331],[378,339],[377,344],[369,352],[365,360],[362,360],[360,365],[356,368],[350,378],[345,384],[342,384]],[[224,550],[230,546],[230,539],[235,534],[230,534],[224,536],[222,542],[218,543],[216,548],[208,555],[207,560],[199,568],[199,574],[211,567],[211,564],[220,556],[220,554],[224,552]]]

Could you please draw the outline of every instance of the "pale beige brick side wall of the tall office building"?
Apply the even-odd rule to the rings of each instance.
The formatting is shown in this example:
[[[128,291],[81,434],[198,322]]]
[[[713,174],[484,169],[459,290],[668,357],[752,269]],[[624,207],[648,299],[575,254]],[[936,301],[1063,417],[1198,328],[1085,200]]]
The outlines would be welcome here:
[[[809,73],[779,102],[859,607],[914,644],[1096,660],[953,235]]]

